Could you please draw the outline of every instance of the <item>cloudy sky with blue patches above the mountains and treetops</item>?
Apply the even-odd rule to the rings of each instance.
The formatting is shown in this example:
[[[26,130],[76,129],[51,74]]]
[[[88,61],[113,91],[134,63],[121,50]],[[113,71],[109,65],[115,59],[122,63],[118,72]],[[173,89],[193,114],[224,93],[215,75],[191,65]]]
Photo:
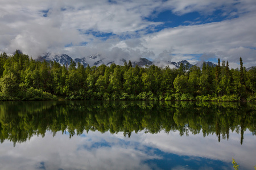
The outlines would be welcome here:
[[[0,0],[0,52],[256,66],[255,0]]]

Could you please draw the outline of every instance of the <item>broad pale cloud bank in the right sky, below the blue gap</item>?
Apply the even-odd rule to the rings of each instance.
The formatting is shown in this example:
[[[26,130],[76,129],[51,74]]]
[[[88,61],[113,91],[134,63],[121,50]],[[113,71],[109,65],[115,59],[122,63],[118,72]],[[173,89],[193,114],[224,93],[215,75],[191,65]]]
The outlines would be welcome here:
[[[147,47],[156,54],[172,49],[175,54],[212,53],[230,62],[255,61],[256,16],[223,22],[167,28],[143,37]],[[146,46],[146,45],[145,45]]]

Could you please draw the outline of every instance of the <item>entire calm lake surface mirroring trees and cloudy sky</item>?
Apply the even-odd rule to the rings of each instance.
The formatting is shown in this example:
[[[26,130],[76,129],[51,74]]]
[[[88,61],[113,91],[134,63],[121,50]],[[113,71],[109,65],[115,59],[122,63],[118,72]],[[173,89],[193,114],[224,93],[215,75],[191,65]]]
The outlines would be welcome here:
[[[0,103],[0,169],[240,169],[256,164],[252,103]]]

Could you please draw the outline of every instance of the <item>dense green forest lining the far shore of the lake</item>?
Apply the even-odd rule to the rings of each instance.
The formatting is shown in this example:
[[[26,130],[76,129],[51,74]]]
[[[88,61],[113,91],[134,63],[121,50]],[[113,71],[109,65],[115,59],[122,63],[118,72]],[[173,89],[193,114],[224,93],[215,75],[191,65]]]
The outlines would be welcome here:
[[[180,65],[179,69],[133,66],[69,67],[36,61],[16,50],[0,56],[0,100],[201,100],[255,101],[256,68]]]

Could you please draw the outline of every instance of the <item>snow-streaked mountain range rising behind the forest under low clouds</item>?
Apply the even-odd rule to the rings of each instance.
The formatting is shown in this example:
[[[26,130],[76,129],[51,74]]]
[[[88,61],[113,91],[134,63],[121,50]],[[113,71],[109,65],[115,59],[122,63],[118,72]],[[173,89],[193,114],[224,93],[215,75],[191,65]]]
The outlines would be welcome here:
[[[109,59],[103,58],[101,56],[101,54],[93,54],[87,57],[83,57],[83,58],[75,58],[72,59],[70,56],[68,56],[67,54],[51,54],[51,53],[46,53],[43,56],[38,57],[38,61],[56,61],[57,63],[60,63],[60,65],[71,65],[71,61],[74,61],[77,65],[77,63],[81,63],[82,65],[86,66],[100,66],[102,64],[105,64],[106,66],[111,65],[112,63],[115,63],[115,61],[111,61]],[[126,60],[125,59],[121,59],[119,61],[119,63],[116,64],[123,64]],[[126,61],[127,62],[127,61]],[[205,61],[201,61],[199,63],[196,63],[196,66],[198,67],[203,67],[203,63]],[[139,67],[144,67],[146,65],[156,65],[159,67],[165,67],[165,66],[170,66],[170,67],[176,67],[179,68],[181,63],[184,64],[184,66],[188,66],[188,69],[191,68],[193,65],[191,63],[189,63],[187,60],[183,60],[183,61],[179,61],[179,62],[173,62],[173,61],[150,61],[147,58],[139,58],[138,61],[133,61],[131,62],[133,66],[138,65]],[[205,62],[206,64],[208,64],[209,66],[216,66],[214,63],[212,62]]]

